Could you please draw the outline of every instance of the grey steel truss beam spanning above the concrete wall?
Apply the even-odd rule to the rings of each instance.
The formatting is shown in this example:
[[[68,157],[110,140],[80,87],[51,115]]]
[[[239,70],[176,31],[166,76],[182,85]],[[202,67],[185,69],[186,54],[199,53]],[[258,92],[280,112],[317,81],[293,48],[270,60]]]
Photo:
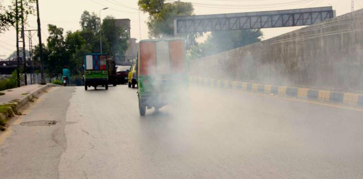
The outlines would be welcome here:
[[[232,31],[276,27],[306,26],[333,18],[332,7],[284,11],[181,16],[174,19],[174,35],[212,31]]]

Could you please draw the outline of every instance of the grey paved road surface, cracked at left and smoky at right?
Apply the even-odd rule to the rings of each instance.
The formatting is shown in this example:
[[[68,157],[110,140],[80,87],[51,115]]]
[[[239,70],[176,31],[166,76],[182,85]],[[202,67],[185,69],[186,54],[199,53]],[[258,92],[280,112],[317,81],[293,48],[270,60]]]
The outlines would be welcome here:
[[[363,178],[363,110],[199,88],[182,99],[140,117],[125,85],[52,88],[1,144],[1,179]],[[36,120],[58,123],[17,125]]]

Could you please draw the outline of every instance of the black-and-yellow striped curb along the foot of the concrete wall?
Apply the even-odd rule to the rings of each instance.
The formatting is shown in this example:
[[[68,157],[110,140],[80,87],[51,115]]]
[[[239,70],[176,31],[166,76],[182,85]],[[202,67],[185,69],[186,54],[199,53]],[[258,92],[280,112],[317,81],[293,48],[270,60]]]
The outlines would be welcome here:
[[[242,81],[216,80],[200,77],[190,77],[190,82],[193,85],[211,87],[215,89],[242,90],[253,93],[273,94],[281,97],[309,99],[363,107],[363,94],[291,86],[267,85]]]

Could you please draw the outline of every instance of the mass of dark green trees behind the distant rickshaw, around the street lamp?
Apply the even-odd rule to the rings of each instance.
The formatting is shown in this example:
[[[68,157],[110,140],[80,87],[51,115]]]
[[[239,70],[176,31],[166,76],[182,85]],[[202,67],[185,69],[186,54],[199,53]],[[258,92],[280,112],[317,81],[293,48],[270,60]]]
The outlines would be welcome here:
[[[102,24],[103,52],[121,56],[127,49],[127,33],[116,27],[112,16],[107,16]],[[43,45],[45,73],[48,77],[61,76],[67,65],[73,77],[83,71],[83,59],[86,53],[100,52],[100,19],[95,13],[84,11],[80,19],[81,29],[66,32],[55,25],[48,25],[47,45]],[[39,59],[39,47],[34,49],[35,59]],[[73,78],[72,77],[72,78]]]

